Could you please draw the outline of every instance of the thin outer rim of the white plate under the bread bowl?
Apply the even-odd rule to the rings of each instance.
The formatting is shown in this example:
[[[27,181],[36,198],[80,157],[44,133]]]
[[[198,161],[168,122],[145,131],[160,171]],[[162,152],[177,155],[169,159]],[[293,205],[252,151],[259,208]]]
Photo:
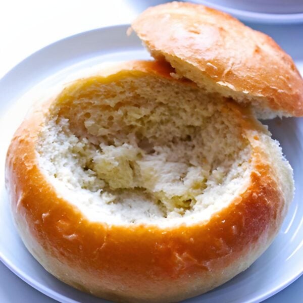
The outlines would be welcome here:
[[[303,14],[302,14],[302,18],[303,18]],[[53,43],[50,43],[48,45],[43,46],[42,48],[38,49],[36,52],[32,53],[31,55],[27,56],[26,58],[24,58],[23,60],[21,60],[20,62],[18,62],[16,65],[14,65],[7,73],[5,73],[1,78],[0,78],[0,83],[2,81],[4,81],[6,79],[7,76],[9,76],[10,74],[13,74],[15,72],[16,69],[20,68],[20,65],[22,66],[22,64],[26,63],[27,61],[31,60],[32,58],[34,58],[37,54],[44,52],[47,48],[49,47],[54,47],[56,44],[61,44],[65,41],[68,40],[73,40],[73,39],[77,39],[81,36],[86,36],[89,33],[92,32],[99,32],[99,31],[107,31],[107,30],[112,30],[112,29],[116,29],[116,30],[125,30],[130,26],[130,24],[118,24],[118,25],[112,25],[112,26],[105,26],[105,27],[100,27],[100,28],[95,28],[95,29],[91,29],[88,31],[83,31],[80,33],[76,33],[74,35],[71,36],[67,36],[65,38],[59,39],[57,41],[54,41]],[[42,80],[40,80],[42,81]],[[2,117],[2,114],[0,114],[0,117]],[[3,186],[4,187],[4,186]],[[5,190],[5,189],[4,189]],[[17,233],[17,231],[15,231]],[[19,237],[19,234],[17,233],[17,236]],[[22,242],[23,243],[23,242]],[[23,244],[24,245],[24,244]],[[33,256],[31,256],[31,258],[34,258]],[[61,301],[61,302],[65,302],[65,303],[79,303],[80,301],[74,300],[70,297],[67,297],[65,295],[62,295],[58,292],[56,292],[55,290],[52,290],[49,287],[44,286],[43,284],[41,284],[40,282],[38,282],[35,278],[30,277],[28,274],[26,274],[23,270],[18,269],[14,263],[12,261],[10,261],[8,258],[6,258],[3,255],[3,252],[0,250],[0,261],[9,269],[11,270],[17,277],[19,277],[21,280],[23,280],[25,283],[27,283],[28,285],[30,285],[31,287],[33,287],[34,289],[40,291],[41,293],[43,293],[44,295],[51,297],[57,301]],[[41,266],[41,265],[40,265]],[[43,269],[45,271],[45,269]],[[45,271],[45,273],[47,273],[47,271]],[[295,280],[297,280],[299,277],[303,276],[303,269],[301,269],[298,273],[296,273],[294,276],[292,276],[291,278],[287,279],[284,282],[281,282],[279,285],[277,285],[276,287],[270,289],[267,292],[264,292],[263,294],[260,294],[259,296],[255,296],[254,298],[251,299],[247,299],[243,302],[246,303],[256,303],[256,302],[261,302],[263,300],[266,300],[267,298],[275,295],[276,293],[278,293],[279,291],[283,290],[284,288],[286,288],[287,286],[289,286],[292,282],[294,282]],[[60,281],[58,279],[58,281]],[[64,283],[62,281],[60,281],[61,283]],[[64,283],[65,285],[68,285],[66,283]],[[68,285],[69,286],[69,285]],[[71,286],[69,286],[71,287]]]

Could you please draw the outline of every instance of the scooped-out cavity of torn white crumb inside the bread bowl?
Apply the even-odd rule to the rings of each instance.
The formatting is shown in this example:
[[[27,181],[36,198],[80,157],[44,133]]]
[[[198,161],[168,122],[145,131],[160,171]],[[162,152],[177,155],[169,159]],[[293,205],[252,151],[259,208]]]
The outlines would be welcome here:
[[[88,82],[57,98],[36,148],[90,220],[203,221],[249,181],[251,148],[226,100],[150,76]]]

